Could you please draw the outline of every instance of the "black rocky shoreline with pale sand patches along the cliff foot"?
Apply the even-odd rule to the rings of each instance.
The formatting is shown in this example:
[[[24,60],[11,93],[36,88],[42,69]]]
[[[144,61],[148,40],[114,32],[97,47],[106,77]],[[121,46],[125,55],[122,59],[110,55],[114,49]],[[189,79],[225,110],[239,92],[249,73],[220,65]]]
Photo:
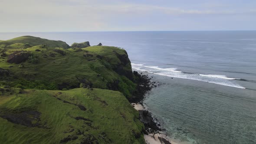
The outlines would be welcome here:
[[[144,124],[145,130],[144,139],[147,144],[175,144],[171,143],[170,140],[167,139],[167,136],[162,132],[160,128],[161,124],[159,123],[157,118],[154,118],[152,114],[145,109],[143,105],[143,100],[145,98],[145,94],[150,91],[152,88],[157,87],[158,82],[152,81],[148,75],[143,75],[143,73],[138,73],[134,71],[135,75],[135,83],[137,84],[137,91],[134,93],[134,96],[129,99],[131,105],[138,110],[140,115],[140,121]]]

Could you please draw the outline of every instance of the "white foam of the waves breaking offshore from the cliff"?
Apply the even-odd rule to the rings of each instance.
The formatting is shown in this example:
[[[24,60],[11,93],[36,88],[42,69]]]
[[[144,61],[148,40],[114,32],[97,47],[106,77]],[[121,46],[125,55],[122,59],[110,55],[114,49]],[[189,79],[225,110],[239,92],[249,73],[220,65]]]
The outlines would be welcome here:
[[[132,68],[137,69],[144,72],[150,72],[157,75],[164,75],[169,77],[181,78],[181,79],[191,79],[197,80],[201,82],[209,82],[218,85],[226,85],[236,88],[244,88],[232,82],[236,78],[228,78],[226,75],[203,75],[203,74],[196,74],[196,73],[185,73],[181,71],[177,71],[176,68],[159,68],[158,66],[146,66],[143,64],[134,64],[132,63]]]

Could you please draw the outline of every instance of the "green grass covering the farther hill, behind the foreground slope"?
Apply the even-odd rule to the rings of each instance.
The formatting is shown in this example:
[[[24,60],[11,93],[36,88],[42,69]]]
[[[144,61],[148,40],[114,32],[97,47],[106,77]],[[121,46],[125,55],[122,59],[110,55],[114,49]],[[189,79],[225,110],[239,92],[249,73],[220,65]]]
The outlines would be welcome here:
[[[10,45],[9,48],[23,45],[16,43]],[[56,52],[56,49],[65,53],[65,55]],[[16,50],[14,48],[7,49],[5,52],[11,54]],[[108,85],[118,80],[120,84],[119,88],[116,85],[117,89],[124,92],[127,97],[131,96],[131,92],[125,92],[124,87],[135,88],[135,85],[130,85],[130,80],[121,78],[115,72],[116,67],[121,64],[118,55],[127,56],[124,49],[110,46],[91,46],[79,49],[80,51],[77,52],[77,48],[49,48],[38,45],[22,50],[31,52],[33,56],[36,56],[36,62],[27,60],[22,63],[24,67],[20,68],[21,64],[8,63],[7,57],[0,59],[0,67],[8,69],[11,73],[11,76],[0,81],[3,85],[24,89],[71,89],[78,88],[81,80],[86,79],[86,81],[92,83],[93,88],[108,89]],[[122,68],[131,72],[130,63],[122,65]]]

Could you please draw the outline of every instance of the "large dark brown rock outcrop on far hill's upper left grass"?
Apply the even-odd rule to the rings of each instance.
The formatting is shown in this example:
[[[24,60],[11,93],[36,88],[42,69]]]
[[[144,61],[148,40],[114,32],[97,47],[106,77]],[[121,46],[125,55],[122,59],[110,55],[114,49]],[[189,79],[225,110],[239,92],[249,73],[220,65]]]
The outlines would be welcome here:
[[[7,57],[7,62],[19,64],[26,61],[31,56],[30,52],[16,51]]]

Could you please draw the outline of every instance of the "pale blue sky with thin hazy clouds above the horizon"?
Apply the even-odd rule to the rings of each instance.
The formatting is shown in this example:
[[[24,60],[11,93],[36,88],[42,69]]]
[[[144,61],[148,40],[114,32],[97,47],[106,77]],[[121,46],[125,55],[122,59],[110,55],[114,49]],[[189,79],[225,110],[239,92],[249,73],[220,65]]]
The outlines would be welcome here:
[[[0,0],[0,32],[256,30],[256,0]]]

